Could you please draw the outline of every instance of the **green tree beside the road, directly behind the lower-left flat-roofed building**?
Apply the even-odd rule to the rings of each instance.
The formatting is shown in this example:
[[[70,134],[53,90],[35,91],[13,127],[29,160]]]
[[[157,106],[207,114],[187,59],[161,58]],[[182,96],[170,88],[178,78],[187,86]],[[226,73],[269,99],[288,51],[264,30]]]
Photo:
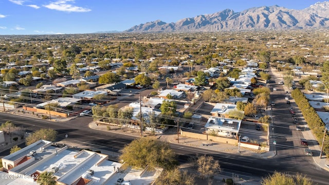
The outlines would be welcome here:
[[[46,141],[55,141],[57,137],[57,132],[52,130],[51,128],[41,128],[38,131],[33,132],[30,134],[26,140],[26,145],[30,145],[39,140],[46,140]]]

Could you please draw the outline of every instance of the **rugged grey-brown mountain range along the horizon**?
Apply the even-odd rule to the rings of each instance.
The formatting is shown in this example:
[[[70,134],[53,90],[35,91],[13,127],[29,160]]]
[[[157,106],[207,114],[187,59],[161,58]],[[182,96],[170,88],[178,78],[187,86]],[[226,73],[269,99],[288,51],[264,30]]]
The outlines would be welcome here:
[[[313,29],[329,27],[329,2],[302,10],[280,6],[249,8],[242,12],[225,9],[212,14],[183,18],[176,23],[156,20],[123,32],[216,32],[221,30]]]

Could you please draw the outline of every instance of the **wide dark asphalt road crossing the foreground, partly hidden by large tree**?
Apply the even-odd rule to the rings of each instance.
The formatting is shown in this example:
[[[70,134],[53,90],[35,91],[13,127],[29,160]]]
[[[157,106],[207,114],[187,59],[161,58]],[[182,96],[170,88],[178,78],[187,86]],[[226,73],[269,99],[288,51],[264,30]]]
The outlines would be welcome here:
[[[68,135],[70,142],[81,143],[82,145],[97,146],[99,149],[118,152],[125,144],[129,144],[135,139],[133,136],[119,135],[106,131],[92,130],[88,123],[92,121],[90,117],[78,117],[68,122],[49,122],[45,120],[35,120],[28,117],[20,117],[0,113],[0,122],[12,121],[16,126],[23,126],[28,132],[39,128],[52,128],[57,130],[57,140],[62,140]],[[197,154],[209,154],[220,161],[221,168],[226,175],[239,176],[244,179],[259,181],[261,177],[267,176],[274,171],[289,172],[296,174],[301,172],[319,184],[327,184],[328,172],[320,169],[310,161],[297,162],[297,158],[278,155],[270,159],[259,159],[245,157],[228,153],[208,151],[197,147],[182,146],[170,143],[172,149],[178,154],[181,164],[189,163],[188,159]],[[8,155],[8,154],[0,154]]]

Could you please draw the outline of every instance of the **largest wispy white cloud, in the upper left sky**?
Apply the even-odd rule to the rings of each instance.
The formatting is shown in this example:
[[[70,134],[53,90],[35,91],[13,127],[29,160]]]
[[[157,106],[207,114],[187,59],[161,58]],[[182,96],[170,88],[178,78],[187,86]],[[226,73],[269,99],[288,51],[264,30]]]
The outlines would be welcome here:
[[[78,6],[73,6],[71,3],[75,3],[75,0],[59,0],[57,2],[50,3],[49,5],[44,5],[44,7],[52,9],[52,10],[58,10],[58,11],[65,11],[65,12],[89,12],[92,11],[88,8],[82,8]]]

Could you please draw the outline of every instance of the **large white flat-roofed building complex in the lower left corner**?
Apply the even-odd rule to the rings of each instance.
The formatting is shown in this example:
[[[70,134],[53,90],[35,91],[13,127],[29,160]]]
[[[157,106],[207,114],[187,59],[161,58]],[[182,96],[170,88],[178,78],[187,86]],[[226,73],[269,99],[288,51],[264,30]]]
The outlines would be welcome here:
[[[103,153],[103,152],[102,152]],[[145,177],[145,169],[124,170],[119,162],[108,160],[108,155],[88,150],[72,151],[68,146],[57,146],[50,141],[39,140],[23,149],[2,158],[5,172],[9,175],[25,178],[3,178],[2,184],[36,184],[43,172],[52,172],[57,184],[116,184],[124,178],[122,184],[136,184],[142,180],[152,183],[160,174]],[[6,173],[8,172],[8,173]]]

